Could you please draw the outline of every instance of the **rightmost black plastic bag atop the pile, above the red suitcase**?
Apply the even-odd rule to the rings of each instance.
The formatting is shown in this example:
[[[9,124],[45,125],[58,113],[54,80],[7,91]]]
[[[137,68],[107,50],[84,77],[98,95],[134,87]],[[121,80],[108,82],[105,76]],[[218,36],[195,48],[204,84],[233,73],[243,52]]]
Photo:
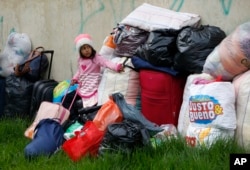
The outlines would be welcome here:
[[[216,26],[201,25],[186,27],[177,37],[178,51],[174,59],[174,69],[186,73],[201,73],[208,55],[226,37]]]

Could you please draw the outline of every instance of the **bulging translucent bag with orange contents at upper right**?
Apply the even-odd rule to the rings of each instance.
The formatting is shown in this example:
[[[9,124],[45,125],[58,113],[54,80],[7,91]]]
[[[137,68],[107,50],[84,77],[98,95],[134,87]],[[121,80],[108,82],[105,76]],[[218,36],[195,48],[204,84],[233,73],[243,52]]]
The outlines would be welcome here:
[[[235,76],[250,68],[250,22],[239,25],[230,35],[209,54],[203,66],[203,72],[223,80],[232,80]]]

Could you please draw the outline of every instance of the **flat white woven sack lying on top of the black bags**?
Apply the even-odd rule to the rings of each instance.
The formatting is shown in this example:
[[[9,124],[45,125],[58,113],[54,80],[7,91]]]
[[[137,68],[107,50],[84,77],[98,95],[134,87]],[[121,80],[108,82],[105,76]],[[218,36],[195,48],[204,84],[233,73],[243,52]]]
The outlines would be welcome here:
[[[157,29],[180,30],[186,26],[197,26],[200,19],[200,16],[197,14],[176,12],[143,3],[125,17],[121,23],[138,27],[145,31]]]

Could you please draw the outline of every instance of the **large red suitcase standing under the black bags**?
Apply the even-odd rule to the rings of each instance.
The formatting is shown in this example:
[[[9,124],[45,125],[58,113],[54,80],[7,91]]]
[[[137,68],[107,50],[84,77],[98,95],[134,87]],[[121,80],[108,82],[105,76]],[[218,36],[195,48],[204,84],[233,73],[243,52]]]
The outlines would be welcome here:
[[[158,125],[177,126],[186,77],[141,69],[141,112]]]

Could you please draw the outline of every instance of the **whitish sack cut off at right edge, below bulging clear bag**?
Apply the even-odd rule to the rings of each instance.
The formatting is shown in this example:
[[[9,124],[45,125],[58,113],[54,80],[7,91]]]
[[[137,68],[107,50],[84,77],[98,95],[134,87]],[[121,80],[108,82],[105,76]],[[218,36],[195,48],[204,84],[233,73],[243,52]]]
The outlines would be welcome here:
[[[235,139],[240,146],[250,148],[250,71],[233,79],[236,93],[237,128]]]

